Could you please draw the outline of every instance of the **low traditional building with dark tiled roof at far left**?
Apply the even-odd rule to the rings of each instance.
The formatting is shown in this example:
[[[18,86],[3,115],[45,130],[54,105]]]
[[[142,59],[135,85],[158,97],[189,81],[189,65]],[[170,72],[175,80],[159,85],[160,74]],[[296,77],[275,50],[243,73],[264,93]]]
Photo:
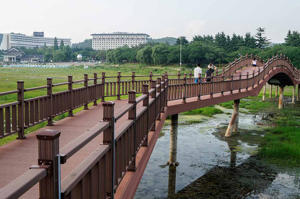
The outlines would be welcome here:
[[[25,55],[24,51],[21,51],[15,47],[3,51],[4,62],[20,62],[20,63],[38,63],[43,62],[43,55]]]

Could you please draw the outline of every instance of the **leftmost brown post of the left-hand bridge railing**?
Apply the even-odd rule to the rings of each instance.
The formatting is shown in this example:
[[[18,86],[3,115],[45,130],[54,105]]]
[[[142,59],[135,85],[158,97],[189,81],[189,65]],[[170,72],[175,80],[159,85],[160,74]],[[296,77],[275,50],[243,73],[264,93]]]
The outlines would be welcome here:
[[[24,81],[17,81],[18,93],[18,137],[17,139],[25,139],[24,134]]]

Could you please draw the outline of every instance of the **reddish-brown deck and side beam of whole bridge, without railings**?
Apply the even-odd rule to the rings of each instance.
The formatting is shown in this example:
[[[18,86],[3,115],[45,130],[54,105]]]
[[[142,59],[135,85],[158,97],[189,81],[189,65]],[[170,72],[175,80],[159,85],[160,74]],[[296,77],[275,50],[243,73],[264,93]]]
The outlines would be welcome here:
[[[241,71],[242,75],[249,72],[252,75],[253,67],[246,67],[242,70],[237,71],[235,75]],[[256,68],[257,70],[257,68]],[[279,70],[279,69],[278,69]],[[282,70],[282,69],[280,69]],[[274,70],[275,71],[275,70]],[[274,72],[273,72],[274,73]],[[238,77],[236,77],[238,78]],[[244,77],[245,78],[245,77]],[[267,79],[263,80],[259,85],[255,85],[254,89],[250,89],[248,92],[244,92],[242,89],[241,93],[234,91],[233,94],[225,92],[224,96],[221,97],[220,94],[215,94],[214,98],[209,98],[209,95],[201,96],[201,101],[196,100],[196,97],[187,98],[187,103],[182,103],[182,99],[174,100],[168,102],[168,107],[166,107],[166,113],[162,114],[162,120],[157,121],[156,126],[158,126],[157,131],[151,131],[149,133],[149,147],[141,147],[137,154],[136,164],[140,165],[140,169],[137,172],[127,172],[124,179],[122,180],[120,186],[117,189],[115,198],[127,198],[127,195],[134,195],[137,189],[138,183],[143,175],[144,169],[146,168],[149,157],[154,148],[155,142],[157,140],[159,131],[164,123],[165,117],[170,114],[176,114],[182,111],[187,111],[195,108],[201,108],[212,104],[217,104],[220,102],[230,101],[233,99],[239,99],[242,97],[247,97],[250,95],[255,95],[259,92],[262,86],[267,82]],[[300,82],[299,82],[300,83]],[[258,93],[257,93],[258,94]],[[116,100],[115,101],[115,112],[122,108],[128,99]],[[138,104],[138,108],[141,107],[141,103]],[[99,103],[98,106],[91,106],[89,110],[80,111],[75,114],[74,117],[67,117],[58,122],[55,122],[55,126],[47,126],[31,134],[26,135],[25,140],[15,140],[4,146],[0,147],[0,189],[6,186],[8,183],[12,182],[14,179],[29,170],[29,167],[37,164],[38,159],[38,143],[36,139],[36,134],[45,129],[55,129],[61,131],[59,138],[59,147],[63,147],[70,141],[77,138],[79,135],[95,126],[100,120],[102,120],[103,106]],[[122,123],[127,120],[128,115],[125,114],[116,123],[116,129],[122,125]],[[94,151],[99,144],[102,143],[102,133],[89,142],[85,147],[75,153],[70,159],[67,160],[66,164],[61,165],[61,179],[66,177],[80,162],[82,162],[92,151]],[[141,160],[142,159],[142,160]],[[140,161],[141,160],[141,161]],[[145,161],[144,161],[145,160]],[[134,180],[134,183],[130,183],[130,180]],[[130,191],[126,192],[128,186]],[[130,193],[129,193],[130,192]],[[125,194],[124,194],[125,193]],[[39,196],[38,185],[33,186],[26,194],[22,195],[22,199],[38,199]]]

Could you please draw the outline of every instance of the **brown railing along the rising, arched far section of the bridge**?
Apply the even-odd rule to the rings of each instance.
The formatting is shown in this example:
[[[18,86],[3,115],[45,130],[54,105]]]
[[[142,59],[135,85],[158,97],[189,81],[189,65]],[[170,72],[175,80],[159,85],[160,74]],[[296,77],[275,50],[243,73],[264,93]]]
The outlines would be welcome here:
[[[273,56],[266,63],[261,58],[257,58],[257,70],[253,70],[252,74],[247,72],[246,74],[234,75],[237,70],[250,65],[252,60],[252,54],[250,58],[247,55],[239,59],[236,58],[228,67],[216,70],[211,77],[202,77],[202,74],[199,74],[199,78],[191,78],[194,74],[190,71],[190,74],[184,74],[183,78],[169,79],[168,100],[183,99],[182,102],[186,102],[186,98],[189,97],[198,97],[198,100],[200,100],[202,95],[213,97],[214,94],[220,93],[223,95],[227,91],[230,91],[231,94],[235,90],[241,92],[241,89],[246,89],[247,91],[248,88],[253,88],[255,84],[258,85],[269,71],[281,66],[289,70],[295,79],[298,80],[300,77],[299,70],[293,67],[291,61],[285,55]],[[220,71],[221,73],[219,73]],[[188,75],[189,77],[187,77]],[[198,79],[198,82],[194,83],[195,79]],[[207,79],[210,79],[210,82],[205,81]]]

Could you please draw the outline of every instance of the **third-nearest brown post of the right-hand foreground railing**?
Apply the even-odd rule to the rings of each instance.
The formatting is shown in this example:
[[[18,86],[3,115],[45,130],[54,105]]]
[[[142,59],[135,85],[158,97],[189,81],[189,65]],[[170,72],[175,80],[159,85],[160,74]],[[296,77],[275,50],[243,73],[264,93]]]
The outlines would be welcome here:
[[[128,91],[128,104],[133,104],[134,107],[131,108],[128,111],[128,120],[133,120],[134,121],[134,129],[133,129],[133,135],[134,135],[134,140],[133,140],[133,161],[128,169],[128,171],[136,171],[136,157],[137,157],[137,148],[140,147],[140,140],[137,140],[137,101],[136,101],[136,94],[137,91],[135,90],[130,90]]]

